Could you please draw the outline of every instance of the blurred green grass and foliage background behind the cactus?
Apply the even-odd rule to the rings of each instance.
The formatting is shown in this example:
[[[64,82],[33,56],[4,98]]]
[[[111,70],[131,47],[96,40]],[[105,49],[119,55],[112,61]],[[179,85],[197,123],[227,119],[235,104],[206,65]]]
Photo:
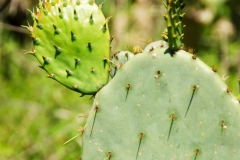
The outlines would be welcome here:
[[[148,41],[161,39],[166,12],[162,2],[106,0],[103,12],[112,16],[109,25],[115,36],[111,52],[144,48]],[[239,94],[240,1],[185,2],[185,49],[194,48]],[[32,23],[26,9],[36,4],[38,0],[0,0],[0,159],[77,159],[81,136],[63,144],[80,133],[91,100],[46,78],[35,58],[24,55],[33,45],[20,26]]]

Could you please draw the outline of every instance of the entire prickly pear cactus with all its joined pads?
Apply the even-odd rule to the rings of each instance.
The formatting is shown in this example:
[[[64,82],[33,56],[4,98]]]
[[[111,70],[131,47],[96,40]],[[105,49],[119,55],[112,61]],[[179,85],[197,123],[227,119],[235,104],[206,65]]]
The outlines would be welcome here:
[[[134,56],[118,52],[112,60],[113,37],[99,8],[93,1],[64,2],[41,3],[33,13],[28,29],[35,49],[28,53],[50,78],[81,93],[95,93],[110,71],[82,130],[81,159],[239,159],[239,100],[215,68],[182,50],[183,0],[164,4],[168,43],[150,43]]]

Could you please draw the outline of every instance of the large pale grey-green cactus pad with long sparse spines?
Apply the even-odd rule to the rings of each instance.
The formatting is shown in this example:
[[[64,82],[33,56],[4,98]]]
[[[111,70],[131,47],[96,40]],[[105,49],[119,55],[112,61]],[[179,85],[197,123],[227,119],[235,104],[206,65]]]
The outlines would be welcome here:
[[[155,48],[96,94],[82,159],[239,160],[239,114],[239,101],[210,67],[183,50]]]

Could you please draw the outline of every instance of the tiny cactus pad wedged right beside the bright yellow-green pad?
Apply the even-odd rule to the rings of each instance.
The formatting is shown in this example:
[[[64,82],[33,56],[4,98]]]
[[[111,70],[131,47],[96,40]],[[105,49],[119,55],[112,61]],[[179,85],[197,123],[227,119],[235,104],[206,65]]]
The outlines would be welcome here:
[[[129,51],[119,51],[115,53],[110,63],[110,76],[113,78],[116,75],[117,71],[122,68],[122,66],[133,56],[134,54]]]

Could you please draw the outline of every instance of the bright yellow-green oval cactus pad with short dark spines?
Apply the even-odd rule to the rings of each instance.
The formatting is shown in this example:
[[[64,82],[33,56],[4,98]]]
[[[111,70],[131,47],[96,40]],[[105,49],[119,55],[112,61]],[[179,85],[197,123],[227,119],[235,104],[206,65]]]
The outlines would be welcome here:
[[[94,94],[108,82],[108,19],[93,0],[40,1],[32,12],[34,55],[49,77],[66,87]]]

